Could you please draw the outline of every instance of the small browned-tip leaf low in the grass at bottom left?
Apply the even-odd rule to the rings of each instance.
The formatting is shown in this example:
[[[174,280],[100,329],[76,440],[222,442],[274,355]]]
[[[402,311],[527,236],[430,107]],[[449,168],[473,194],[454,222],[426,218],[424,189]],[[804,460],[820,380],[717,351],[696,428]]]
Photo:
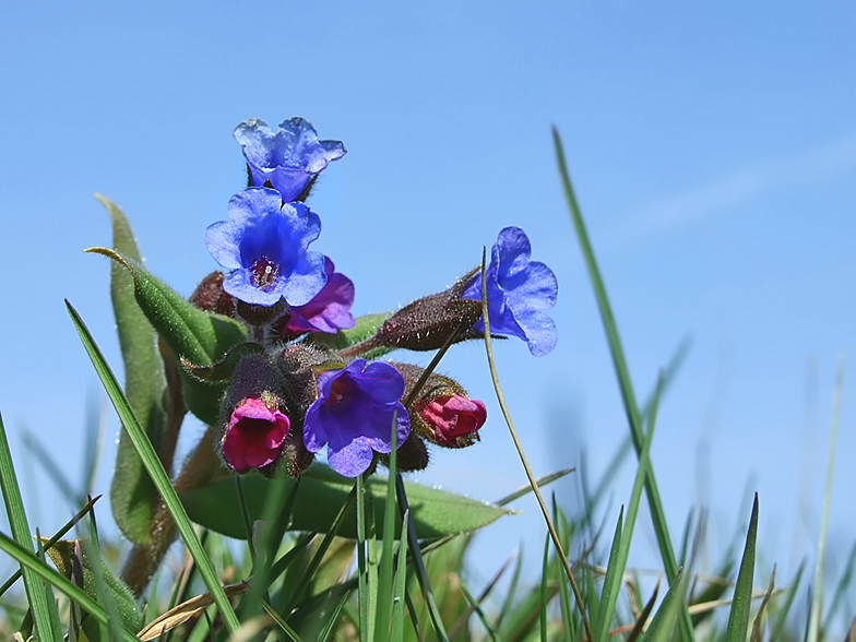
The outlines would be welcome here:
[[[47,539],[44,540],[47,543]],[[97,591],[97,578],[94,575],[92,563],[80,546],[74,546],[74,540],[57,542],[47,550],[50,561],[67,579],[78,584],[83,592],[95,602],[100,602]],[[76,550],[75,550],[76,548]],[[79,574],[83,574],[80,583]],[[138,631],[143,622],[143,613],[131,593],[131,590],[110,570],[100,562],[100,578],[106,591],[106,598],[112,602],[111,610],[119,617],[122,628],[128,631]],[[104,606],[104,605],[103,605]],[[100,640],[98,621],[84,614],[81,621],[83,630],[90,640]]]

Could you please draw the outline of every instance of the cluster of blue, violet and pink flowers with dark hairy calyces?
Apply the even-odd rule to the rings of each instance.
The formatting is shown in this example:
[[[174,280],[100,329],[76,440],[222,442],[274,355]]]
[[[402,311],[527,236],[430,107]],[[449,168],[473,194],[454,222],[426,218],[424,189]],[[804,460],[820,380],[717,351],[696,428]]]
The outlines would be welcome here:
[[[227,274],[207,276],[191,297],[206,311],[240,319],[254,342],[236,346],[216,367],[229,372],[218,449],[226,466],[268,475],[285,462],[299,475],[325,450],[334,471],[356,477],[387,462],[393,443],[400,469],[407,471],[428,464],[427,444],[460,449],[477,441],[487,408],[456,381],[373,359],[480,337],[482,271],[392,314],[355,320],[354,284],[329,257],[309,250],[321,217],[306,204],[345,146],[319,140],[302,118],[275,132],[247,120],[235,138],[249,185],[229,200],[228,219],[204,235]],[[556,304],[557,282],[530,257],[522,229],[499,233],[484,274],[488,324],[542,356],[556,346],[545,310]]]

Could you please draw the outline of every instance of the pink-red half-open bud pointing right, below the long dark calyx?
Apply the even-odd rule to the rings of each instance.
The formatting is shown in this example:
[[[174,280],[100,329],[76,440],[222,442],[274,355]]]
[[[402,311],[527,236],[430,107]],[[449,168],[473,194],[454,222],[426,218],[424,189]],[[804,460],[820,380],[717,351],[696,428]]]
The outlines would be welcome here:
[[[487,408],[478,400],[461,394],[438,396],[417,404],[416,413],[439,445],[463,448],[478,439],[476,433],[487,420]]]

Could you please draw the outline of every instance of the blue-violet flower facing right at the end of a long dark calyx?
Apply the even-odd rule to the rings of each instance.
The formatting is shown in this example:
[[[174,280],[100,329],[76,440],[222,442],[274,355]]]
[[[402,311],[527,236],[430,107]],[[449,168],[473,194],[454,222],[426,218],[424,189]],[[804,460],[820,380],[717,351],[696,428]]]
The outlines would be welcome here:
[[[544,263],[530,261],[532,247],[520,227],[499,233],[487,268],[487,310],[490,332],[516,336],[536,357],[556,347],[556,323],[542,310],[556,305],[556,275]],[[482,274],[466,286],[464,299],[482,300]],[[473,326],[485,331],[484,319]]]

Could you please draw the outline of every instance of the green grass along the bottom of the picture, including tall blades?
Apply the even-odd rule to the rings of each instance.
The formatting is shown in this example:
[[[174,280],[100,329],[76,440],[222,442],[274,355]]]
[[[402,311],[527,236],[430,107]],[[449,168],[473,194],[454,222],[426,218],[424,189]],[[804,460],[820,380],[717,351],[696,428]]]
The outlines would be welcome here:
[[[543,550],[513,552],[510,545],[508,556],[497,559],[496,569],[483,570],[483,574],[492,573],[488,584],[480,592],[474,590],[465,559],[473,546],[478,545],[478,539],[471,533],[432,539],[419,537],[415,513],[420,509],[415,501],[408,501],[407,486],[397,471],[394,450],[388,462],[390,474],[383,487],[385,496],[383,490],[380,495],[368,490],[368,479],[373,474],[370,471],[365,478],[355,480],[353,490],[341,500],[341,506],[333,511],[334,516],[318,533],[290,530],[293,509],[300,506],[298,498],[305,501],[308,483],[302,486],[300,483],[270,485],[263,510],[252,513],[247,499],[247,489],[252,485],[240,478],[234,484],[240,507],[235,519],[239,520],[246,539],[227,542],[224,536],[201,528],[189,520],[177,492],[187,484],[188,471],[179,473],[176,479],[169,478],[163,453],[138,421],[133,403],[112,376],[95,338],[69,306],[83,346],[127,431],[126,449],[134,449],[132,457],[127,451],[123,456],[134,462],[139,457],[163,503],[158,508],[159,504],[153,502],[150,512],[175,526],[181,537],[182,551],[187,552],[186,562],[174,574],[160,571],[155,582],[157,590],[152,588],[140,598],[122,582],[127,570],[119,571],[103,563],[109,557],[106,551],[112,550],[118,543],[110,542],[109,537],[106,540],[105,528],[99,532],[96,527],[98,507],[88,499],[99,442],[98,432],[93,428],[87,431],[88,448],[81,489],[74,487],[61,465],[40,444],[33,440],[27,442],[28,452],[52,479],[56,491],[80,509],[54,537],[37,537],[38,530],[27,520],[5,428],[0,420],[0,484],[11,527],[11,535],[0,534],[0,550],[20,567],[0,587],[0,608],[4,614],[0,618],[0,637],[11,639],[20,631],[24,639],[33,633],[39,640],[50,641],[67,635],[71,640],[135,640],[138,633],[145,631],[145,639],[164,642],[654,642],[696,639],[727,642],[807,639],[816,642],[830,639],[833,633],[843,639],[849,625],[847,618],[853,615],[844,613],[844,608],[852,590],[856,548],[851,551],[839,578],[830,580],[823,574],[842,374],[835,390],[823,526],[813,560],[816,572],[811,591],[804,582],[807,564],[785,584],[775,583],[774,571],[769,575],[759,571],[757,560],[766,559],[764,542],[758,539],[759,524],[764,522],[765,515],[759,510],[757,497],[751,512],[748,507],[739,507],[740,514],[748,518],[745,535],[740,534],[739,542],[718,559],[708,561],[710,568],[720,570],[718,576],[700,575],[697,566],[711,524],[703,511],[689,511],[687,520],[677,527],[667,523],[650,456],[656,438],[657,414],[661,406],[668,403],[668,387],[677,376],[686,344],[664,364],[653,393],[640,405],[558,132],[554,134],[554,142],[560,186],[588,270],[621,393],[628,438],[626,447],[615,453],[601,479],[590,480],[585,464],[583,469],[570,475],[585,498],[583,506],[572,513],[562,511],[555,496],[548,506],[543,491],[571,471],[534,477],[502,397],[501,373],[494,364],[494,344],[489,323],[486,323],[488,367],[521,465],[530,480],[526,487],[496,498],[496,504],[504,507],[532,492],[548,531]],[[130,306],[132,301],[126,300],[122,305]],[[134,322],[143,321],[136,318]],[[451,343],[450,338],[437,354],[429,372]],[[157,368],[148,367],[148,370],[159,372]],[[427,380],[427,373],[423,379]],[[171,385],[170,392],[175,393],[175,387],[180,383],[174,379]],[[143,401],[151,403],[152,397],[160,397],[159,388],[147,392]],[[413,399],[415,391],[406,405],[409,406]],[[90,426],[94,423],[90,421]],[[176,426],[171,428],[177,430]],[[392,429],[394,439],[394,421]],[[608,489],[631,449],[637,454],[632,490],[628,497],[619,498],[620,506],[613,507],[606,499]],[[211,444],[203,442],[194,455],[200,460],[191,457],[189,461],[193,466],[203,461],[216,468],[219,464],[212,459],[211,450]],[[170,457],[171,454],[167,462]],[[134,474],[141,474],[142,468],[134,471]],[[205,479],[193,483],[205,484]],[[346,492],[342,494],[343,498]],[[649,513],[641,510],[643,496]],[[414,497],[412,495],[411,499]],[[381,502],[382,510],[376,510]],[[126,506],[123,509],[128,511],[124,516],[129,520],[129,515],[136,515],[133,508]],[[356,531],[350,532],[352,536],[356,534],[355,539],[340,536],[349,511],[356,515]],[[259,521],[253,522],[259,515]],[[453,519],[454,514],[450,515]],[[105,516],[100,513],[97,516],[103,524]],[[83,518],[88,518],[88,528],[81,528],[79,522]],[[629,567],[632,552],[640,546],[639,521],[644,519],[651,520],[662,560],[662,568],[655,569],[662,580],[657,581],[657,587],[651,586],[653,582],[641,581],[638,570]],[[603,521],[598,525],[595,520]],[[75,524],[79,532],[88,535],[62,540]],[[139,526],[139,522],[134,524]],[[168,546],[169,542],[171,539],[163,544]],[[679,556],[676,556],[674,542],[679,543]],[[139,544],[134,549],[138,552]],[[61,551],[64,551],[64,558],[60,556]],[[64,561],[55,568],[50,560],[57,559]],[[534,581],[530,579],[532,573],[524,571],[533,566],[538,569]],[[819,590],[824,582],[835,586],[830,601],[824,601]],[[141,617],[142,623],[138,621]]]

